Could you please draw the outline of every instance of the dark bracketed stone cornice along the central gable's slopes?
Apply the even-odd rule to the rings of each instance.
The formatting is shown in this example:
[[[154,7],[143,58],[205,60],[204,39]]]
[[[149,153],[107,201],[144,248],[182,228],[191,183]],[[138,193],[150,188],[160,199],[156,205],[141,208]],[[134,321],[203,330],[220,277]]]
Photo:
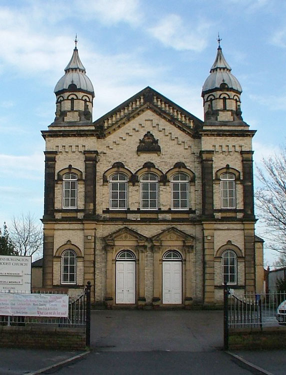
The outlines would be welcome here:
[[[203,124],[203,121],[199,118],[149,86],[98,118],[93,124],[95,129],[100,130],[102,136],[106,136],[145,110],[153,111],[167,122],[192,136]]]

